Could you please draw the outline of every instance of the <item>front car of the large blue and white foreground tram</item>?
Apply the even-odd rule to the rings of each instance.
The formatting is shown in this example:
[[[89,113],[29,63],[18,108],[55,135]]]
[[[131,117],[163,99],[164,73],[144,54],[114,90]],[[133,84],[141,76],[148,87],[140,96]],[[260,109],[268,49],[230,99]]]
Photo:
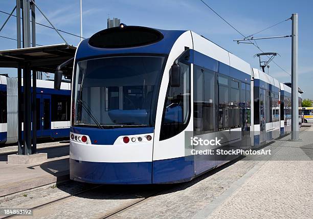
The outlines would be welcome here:
[[[253,130],[250,65],[192,31],[106,29],[80,42],[74,67],[73,180],[189,181],[227,161],[186,159],[186,131],[223,132],[230,147]]]

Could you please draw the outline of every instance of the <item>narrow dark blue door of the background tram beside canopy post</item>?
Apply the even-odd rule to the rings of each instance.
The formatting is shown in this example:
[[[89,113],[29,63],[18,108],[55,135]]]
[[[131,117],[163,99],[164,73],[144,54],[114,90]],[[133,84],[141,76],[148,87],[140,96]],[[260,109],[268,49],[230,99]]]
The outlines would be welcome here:
[[[37,94],[37,137],[51,135],[51,96]]]

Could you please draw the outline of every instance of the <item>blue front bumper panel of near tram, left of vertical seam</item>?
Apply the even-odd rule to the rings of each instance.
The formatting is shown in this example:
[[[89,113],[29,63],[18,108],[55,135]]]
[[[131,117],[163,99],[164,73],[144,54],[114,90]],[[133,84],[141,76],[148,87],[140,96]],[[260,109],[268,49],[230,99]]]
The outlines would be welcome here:
[[[70,159],[70,178],[99,184],[151,184],[152,162],[105,163]]]

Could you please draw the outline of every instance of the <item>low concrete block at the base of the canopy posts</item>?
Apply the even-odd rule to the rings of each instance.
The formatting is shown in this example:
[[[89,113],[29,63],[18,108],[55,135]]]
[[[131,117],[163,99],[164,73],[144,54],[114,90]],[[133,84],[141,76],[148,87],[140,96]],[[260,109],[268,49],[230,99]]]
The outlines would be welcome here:
[[[8,164],[37,164],[46,162],[47,153],[38,153],[34,155],[8,155]]]

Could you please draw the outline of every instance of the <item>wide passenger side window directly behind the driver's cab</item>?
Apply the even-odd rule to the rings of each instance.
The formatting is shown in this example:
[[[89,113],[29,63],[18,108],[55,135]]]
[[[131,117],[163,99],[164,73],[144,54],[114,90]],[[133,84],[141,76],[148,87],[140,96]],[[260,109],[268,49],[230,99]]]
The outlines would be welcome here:
[[[193,76],[193,130],[211,133],[215,129],[215,73],[194,67]]]

